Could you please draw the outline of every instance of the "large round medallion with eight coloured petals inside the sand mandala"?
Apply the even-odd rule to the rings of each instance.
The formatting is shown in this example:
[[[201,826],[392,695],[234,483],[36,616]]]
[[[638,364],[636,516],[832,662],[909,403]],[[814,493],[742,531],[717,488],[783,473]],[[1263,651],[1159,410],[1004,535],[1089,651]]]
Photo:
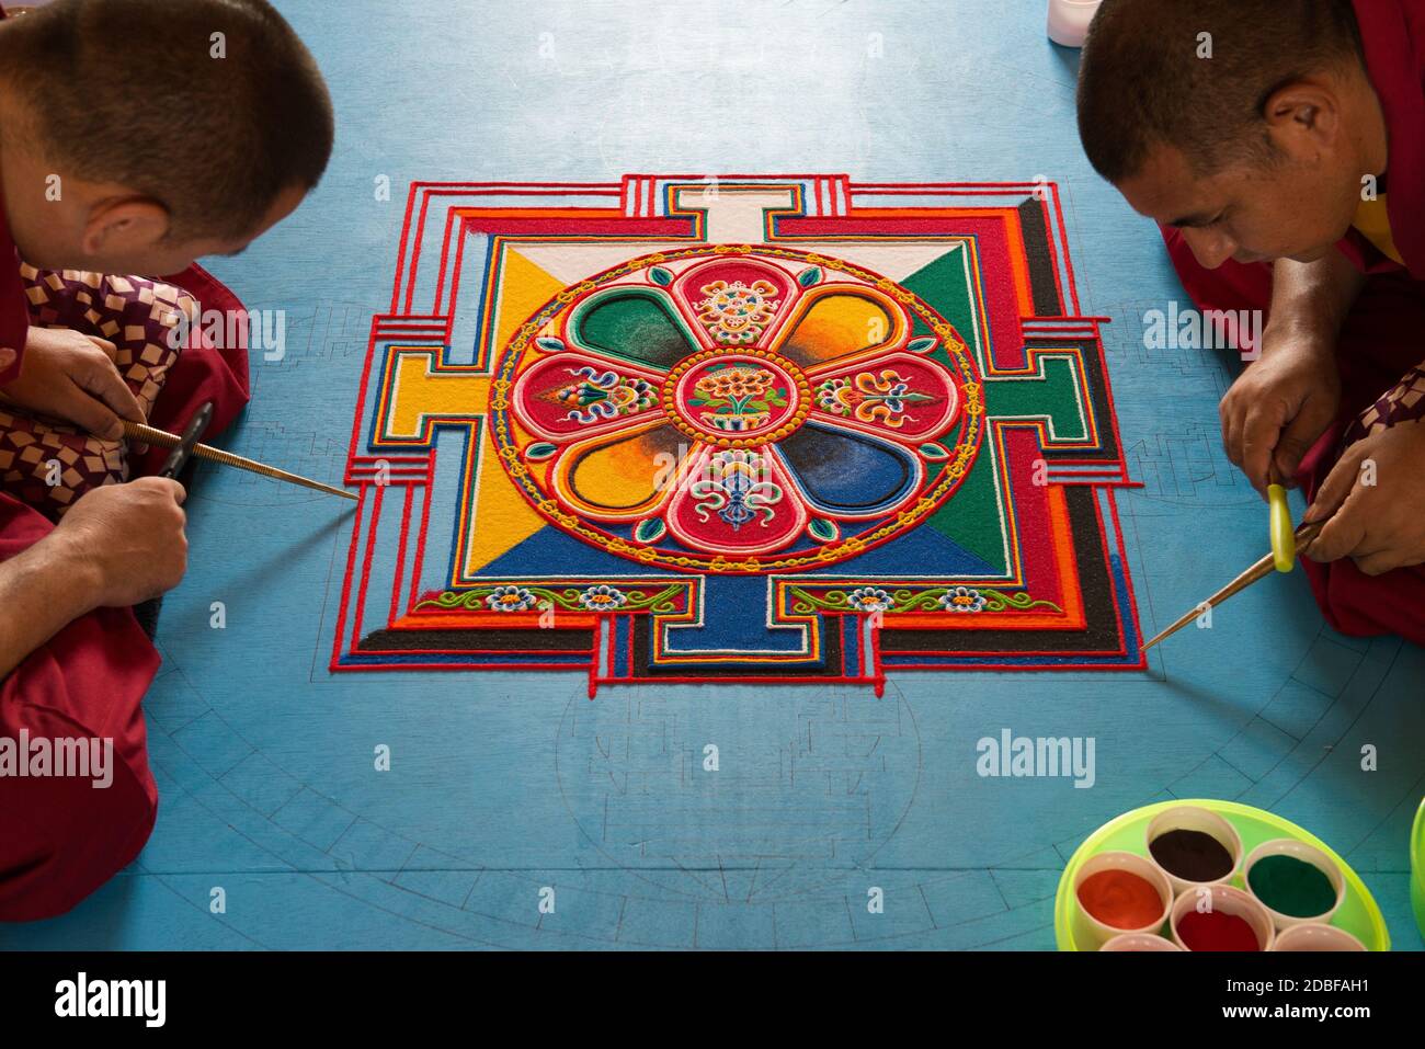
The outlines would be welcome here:
[[[975,462],[985,395],[912,291],[819,252],[711,245],[559,292],[510,338],[489,416],[519,493],[590,546],[650,569],[804,573],[935,516]],[[523,590],[509,600],[524,610]]]

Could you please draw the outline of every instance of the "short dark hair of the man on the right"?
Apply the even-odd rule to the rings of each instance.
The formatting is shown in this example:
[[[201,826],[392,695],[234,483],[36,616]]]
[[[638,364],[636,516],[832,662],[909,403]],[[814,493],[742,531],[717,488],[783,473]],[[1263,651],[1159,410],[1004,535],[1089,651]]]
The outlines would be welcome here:
[[[1079,137],[1114,184],[1160,145],[1200,175],[1267,160],[1267,100],[1352,61],[1349,0],[1103,0],[1079,64]]]

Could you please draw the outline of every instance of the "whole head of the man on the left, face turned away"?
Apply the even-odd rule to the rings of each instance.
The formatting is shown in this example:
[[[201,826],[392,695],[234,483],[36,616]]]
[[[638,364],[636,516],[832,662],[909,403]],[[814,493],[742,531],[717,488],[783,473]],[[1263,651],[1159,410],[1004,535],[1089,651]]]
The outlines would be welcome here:
[[[54,0],[0,21],[0,178],[41,268],[237,254],[321,178],[332,104],[266,0]]]

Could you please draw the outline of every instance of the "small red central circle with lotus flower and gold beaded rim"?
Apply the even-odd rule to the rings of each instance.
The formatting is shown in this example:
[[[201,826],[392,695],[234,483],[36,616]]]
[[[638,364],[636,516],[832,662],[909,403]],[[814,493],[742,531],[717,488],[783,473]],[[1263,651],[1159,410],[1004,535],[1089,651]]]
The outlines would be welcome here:
[[[758,349],[711,349],[684,359],[663,385],[663,410],[690,438],[755,448],[791,436],[811,412],[807,376]]]

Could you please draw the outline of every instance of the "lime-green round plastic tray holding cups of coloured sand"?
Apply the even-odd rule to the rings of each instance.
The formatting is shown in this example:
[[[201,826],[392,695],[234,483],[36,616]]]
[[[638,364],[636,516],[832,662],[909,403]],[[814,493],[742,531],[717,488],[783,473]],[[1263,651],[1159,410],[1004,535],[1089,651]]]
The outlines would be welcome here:
[[[1341,908],[1335,912],[1331,924],[1352,934],[1357,939],[1365,944],[1368,951],[1391,949],[1391,935],[1385,929],[1385,918],[1381,916],[1381,908],[1375,905],[1371,891],[1365,888],[1365,884],[1357,877],[1355,871],[1352,871],[1349,865],[1347,865],[1347,862],[1324,841],[1301,830],[1290,820],[1273,815],[1264,808],[1253,808],[1251,805],[1241,805],[1235,801],[1208,801],[1203,798],[1191,798],[1183,801],[1160,801],[1156,805],[1144,805],[1143,808],[1134,808],[1131,812],[1124,812],[1090,834],[1084,838],[1083,844],[1074,849],[1074,854],[1069,858],[1069,865],[1064,867],[1063,877],[1059,879],[1059,892],[1054,896],[1054,942],[1059,945],[1060,951],[1079,951],[1079,946],[1073,942],[1073,879],[1079,872],[1079,868],[1089,859],[1089,857],[1097,852],[1120,851],[1136,852],[1140,857],[1146,857],[1149,849],[1144,838],[1147,835],[1149,821],[1163,810],[1177,808],[1178,805],[1197,805],[1198,808],[1206,808],[1224,817],[1241,835],[1243,855],[1251,852],[1261,842],[1271,841],[1273,838],[1295,838],[1297,841],[1304,841],[1308,845],[1320,848],[1335,861],[1335,864],[1341,868],[1341,874],[1345,877],[1345,899],[1341,901]],[[1425,805],[1422,805],[1421,812],[1425,812]],[[1421,845],[1421,838],[1425,835],[1425,830],[1422,830],[1422,827],[1425,827],[1425,824],[1422,824],[1422,820],[1418,817],[1415,820],[1416,845]],[[1416,855],[1418,854],[1419,849],[1416,848]],[[1233,877],[1233,884],[1243,888],[1240,871]],[[1419,884],[1419,879],[1414,882],[1414,888],[1418,892],[1425,894],[1425,887]],[[1425,908],[1425,899],[1421,899],[1416,904],[1416,915],[1419,915],[1422,908]]]

